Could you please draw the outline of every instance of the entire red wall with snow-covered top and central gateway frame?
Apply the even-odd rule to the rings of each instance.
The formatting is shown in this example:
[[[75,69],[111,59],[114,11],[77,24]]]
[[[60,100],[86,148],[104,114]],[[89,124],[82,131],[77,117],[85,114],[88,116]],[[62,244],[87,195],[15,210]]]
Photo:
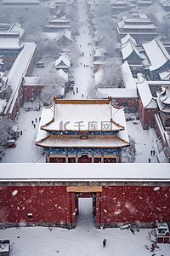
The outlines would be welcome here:
[[[170,223],[169,164],[1,164],[0,226],[75,228],[92,197],[97,228]]]

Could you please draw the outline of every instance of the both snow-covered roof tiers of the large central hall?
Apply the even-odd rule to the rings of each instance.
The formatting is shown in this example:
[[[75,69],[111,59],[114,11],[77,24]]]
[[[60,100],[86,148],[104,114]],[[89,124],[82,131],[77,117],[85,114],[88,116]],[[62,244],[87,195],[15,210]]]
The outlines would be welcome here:
[[[119,131],[115,137],[49,137],[48,131]],[[110,124],[105,128],[105,124]],[[109,127],[109,128],[108,128]],[[108,130],[109,129],[109,130]],[[38,146],[42,147],[125,147],[128,135],[123,108],[115,108],[107,100],[54,100],[50,108],[42,108]],[[102,146],[103,145],[103,146]]]

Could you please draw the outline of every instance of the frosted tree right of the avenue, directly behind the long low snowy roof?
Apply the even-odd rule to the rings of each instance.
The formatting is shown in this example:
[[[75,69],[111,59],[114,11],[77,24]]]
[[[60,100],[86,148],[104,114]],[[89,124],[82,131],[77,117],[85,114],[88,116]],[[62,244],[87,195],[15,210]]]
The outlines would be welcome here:
[[[98,84],[100,88],[121,88],[123,87],[121,61],[116,58],[108,58],[103,67],[103,78]]]

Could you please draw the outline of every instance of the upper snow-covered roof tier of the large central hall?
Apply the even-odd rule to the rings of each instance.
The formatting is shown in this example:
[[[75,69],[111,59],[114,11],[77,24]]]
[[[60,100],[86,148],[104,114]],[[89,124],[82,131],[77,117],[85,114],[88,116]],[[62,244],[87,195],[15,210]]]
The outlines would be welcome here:
[[[105,103],[107,102],[107,103]],[[113,107],[108,103],[108,100],[89,100],[89,101],[66,101],[66,100],[57,100],[50,108],[48,112],[53,111],[54,113],[54,122],[50,125],[43,126],[43,129],[46,131],[59,131],[59,123],[61,120],[63,122],[69,121],[67,125],[67,130],[69,131],[79,131],[77,122],[82,122],[82,131],[90,130],[88,125],[89,122],[95,120],[98,125],[95,127],[95,131],[101,131],[101,122],[107,121],[111,122],[111,117],[117,124],[112,125],[112,131],[120,131],[124,128],[122,127],[123,122],[123,110]],[[51,119],[49,119],[50,121]],[[120,125],[119,125],[120,124]]]

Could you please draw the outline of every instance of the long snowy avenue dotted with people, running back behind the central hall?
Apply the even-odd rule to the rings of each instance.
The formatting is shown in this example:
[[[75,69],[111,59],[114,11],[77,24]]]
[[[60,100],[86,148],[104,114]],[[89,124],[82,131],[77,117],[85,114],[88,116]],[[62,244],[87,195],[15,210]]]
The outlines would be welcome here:
[[[67,94],[67,98],[81,99],[88,98],[89,87],[94,86],[94,40],[91,26],[88,20],[87,2],[80,1],[78,4],[79,35],[76,38],[81,56],[78,66],[75,68],[74,91]]]

